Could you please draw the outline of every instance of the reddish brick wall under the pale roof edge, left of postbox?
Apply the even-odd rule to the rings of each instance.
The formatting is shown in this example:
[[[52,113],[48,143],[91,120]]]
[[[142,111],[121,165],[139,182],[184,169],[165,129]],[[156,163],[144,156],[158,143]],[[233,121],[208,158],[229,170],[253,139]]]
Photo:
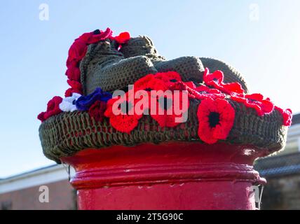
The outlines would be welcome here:
[[[57,181],[45,184],[49,188],[49,202],[39,202],[40,186],[16,190],[0,195],[0,209],[17,210],[48,210],[48,209],[76,209],[76,191],[69,181]]]

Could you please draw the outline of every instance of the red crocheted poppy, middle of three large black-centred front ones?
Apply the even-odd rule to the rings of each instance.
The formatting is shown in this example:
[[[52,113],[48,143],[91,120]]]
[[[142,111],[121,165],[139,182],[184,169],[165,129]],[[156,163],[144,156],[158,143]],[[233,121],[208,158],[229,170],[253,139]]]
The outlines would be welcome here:
[[[184,92],[172,92],[171,94],[158,94],[151,101],[151,117],[161,127],[175,127],[186,122],[189,111],[189,98],[184,97]],[[153,99],[153,97],[152,97]],[[153,102],[155,105],[153,105]]]

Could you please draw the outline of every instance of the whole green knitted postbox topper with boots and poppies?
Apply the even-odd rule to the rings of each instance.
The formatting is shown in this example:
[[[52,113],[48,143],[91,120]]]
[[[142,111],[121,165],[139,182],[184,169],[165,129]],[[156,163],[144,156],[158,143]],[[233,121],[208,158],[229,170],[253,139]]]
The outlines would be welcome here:
[[[71,88],[38,117],[50,160],[60,162],[85,148],[165,141],[243,144],[269,153],[285,146],[292,111],[249,94],[243,76],[217,59],[168,61],[150,38],[112,36],[107,29],[77,38],[67,67]],[[115,96],[115,90],[123,93]]]

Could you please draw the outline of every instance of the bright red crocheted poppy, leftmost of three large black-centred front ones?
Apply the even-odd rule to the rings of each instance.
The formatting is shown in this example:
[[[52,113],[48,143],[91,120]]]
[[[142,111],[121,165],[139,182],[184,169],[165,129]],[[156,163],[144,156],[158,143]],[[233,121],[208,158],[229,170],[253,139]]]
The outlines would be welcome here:
[[[130,132],[137,127],[139,119],[142,118],[142,114],[139,115],[135,113],[135,103],[137,103],[137,99],[129,97],[128,93],[122,97],[109,99],[104,116],[109,118],[109,123],[116,130],[130,134]],[[124,108],[125,111],[123,111],[122,108]]]

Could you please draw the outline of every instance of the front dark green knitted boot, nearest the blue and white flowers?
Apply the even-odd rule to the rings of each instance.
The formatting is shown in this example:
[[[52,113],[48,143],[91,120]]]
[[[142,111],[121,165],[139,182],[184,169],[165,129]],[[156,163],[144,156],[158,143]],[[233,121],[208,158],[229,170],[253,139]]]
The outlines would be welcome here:
[[[148,57],[125,59],[117,47],[116,41],[109,39],[88,45],[80,64],[83,94],[90,94],[97,87],[107,92],[126,90],[135,80],[157,72]]]

